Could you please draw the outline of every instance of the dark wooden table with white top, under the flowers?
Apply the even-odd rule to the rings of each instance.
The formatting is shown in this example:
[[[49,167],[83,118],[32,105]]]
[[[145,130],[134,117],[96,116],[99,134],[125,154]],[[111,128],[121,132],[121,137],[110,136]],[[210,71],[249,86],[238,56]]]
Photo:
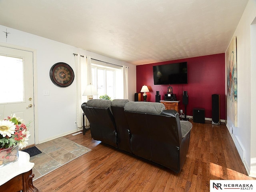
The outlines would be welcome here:
[[[29,162],[28,153],[19,151],[18,161],[0,168],[0,191],[4,192],[39,192],[33,186],[32,168],[34,163]]]

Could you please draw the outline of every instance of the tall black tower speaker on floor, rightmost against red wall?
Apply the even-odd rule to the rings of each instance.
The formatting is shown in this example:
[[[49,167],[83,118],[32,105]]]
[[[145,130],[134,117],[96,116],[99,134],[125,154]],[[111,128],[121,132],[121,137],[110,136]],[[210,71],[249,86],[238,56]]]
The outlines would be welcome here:
[[[220,95],[212,94],[212,124],[220,125]]]

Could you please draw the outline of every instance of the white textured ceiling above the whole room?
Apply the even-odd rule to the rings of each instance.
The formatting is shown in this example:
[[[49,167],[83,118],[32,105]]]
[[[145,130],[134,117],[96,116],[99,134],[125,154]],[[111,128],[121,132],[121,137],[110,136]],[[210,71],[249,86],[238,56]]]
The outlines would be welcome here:
[[[0,24],[138,65],[225,52],[247,2],[0,0]]]

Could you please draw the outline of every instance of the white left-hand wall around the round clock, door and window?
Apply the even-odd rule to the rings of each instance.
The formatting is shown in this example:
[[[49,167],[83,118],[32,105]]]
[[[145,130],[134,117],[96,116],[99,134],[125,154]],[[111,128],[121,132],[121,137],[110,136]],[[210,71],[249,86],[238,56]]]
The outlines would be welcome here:
[[[10,32],[7,42],[6,36],[2,32],[0,43],[34,49],[37,53],[35,63],[37,74],[34,74],[34,76],[37,78],[37,93],[35,93],[35,96],[37,96],[38,100],[39,143],[76,131],[76,126],[74,126],[74,122],[76,121],[76,78],[70,86],[60,88],[55,86],[49,77],[51,66],[57,62],[69,64],[75,72],[75,58],[73,53],[88,55],[91,58],[104,62],[128,66],[128,99],[130,101],[134,100],[134,93],[136,92],[136,66],[0,25],[0,31],[6,31],[6,29],[7,32]],[[44,96],[44,90],[49,90],[50,95]]]

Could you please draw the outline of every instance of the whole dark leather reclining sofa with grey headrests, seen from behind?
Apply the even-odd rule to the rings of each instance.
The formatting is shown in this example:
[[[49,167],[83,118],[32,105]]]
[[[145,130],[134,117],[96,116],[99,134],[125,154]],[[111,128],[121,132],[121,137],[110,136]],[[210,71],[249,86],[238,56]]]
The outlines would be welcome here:
[[[125,99],[92,99],[82,104],[92,138],[104,144],[180,172],[190,142],[192,124],[180,121],[164,104]]]

